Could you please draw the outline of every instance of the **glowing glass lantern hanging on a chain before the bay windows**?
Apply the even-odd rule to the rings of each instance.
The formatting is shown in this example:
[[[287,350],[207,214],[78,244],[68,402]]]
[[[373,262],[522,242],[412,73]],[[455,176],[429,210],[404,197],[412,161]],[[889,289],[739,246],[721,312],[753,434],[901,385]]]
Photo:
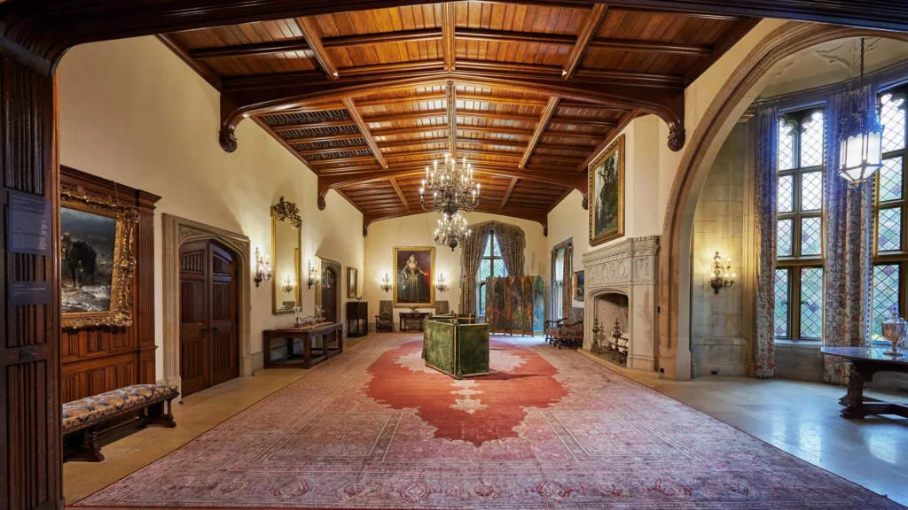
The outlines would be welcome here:
[[[873,177],[883,166],[883,126],[876,116],[876,108],[867,108],[864,91],[864,38],[861,38],[861,76],[858,93],[850,93],[848,111],[842,117],[842,144],[839,157],[839,175],[854,185]],[[855,103],[856,102],[856,103]]]

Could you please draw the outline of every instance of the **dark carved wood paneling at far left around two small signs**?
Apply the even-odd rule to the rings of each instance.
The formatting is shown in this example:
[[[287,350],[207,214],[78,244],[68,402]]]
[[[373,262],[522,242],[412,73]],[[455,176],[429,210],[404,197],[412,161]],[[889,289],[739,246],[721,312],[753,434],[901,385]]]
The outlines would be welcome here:
[[[0,263],[5,286],[0,292],[4,338],[0,342],[0,508],[58,507],[60,479],[60,331],[56,258],[10,253],[6,246],[8,191],[44,197],[57,207],[54,172],[54,83],[0,57],[0,161],[4,191]],[[59,230],[52,219],[52,253]],[[14,306],[7,302],[14,281],[46,281],[51,302]]]

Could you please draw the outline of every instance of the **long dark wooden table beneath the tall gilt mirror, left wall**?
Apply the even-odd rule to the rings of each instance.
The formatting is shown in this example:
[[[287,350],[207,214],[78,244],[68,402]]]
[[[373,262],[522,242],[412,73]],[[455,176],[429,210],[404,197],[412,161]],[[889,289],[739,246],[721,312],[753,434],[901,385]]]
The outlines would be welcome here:
[[[280,338],[286,354],[271,358],[271,343]],[[296,340],[302,340],[302,350],[296,350]],[[279,344],[280,345],[280,344]],[[317,322],[302,328],[268,329],[262,331],[265,368],[311,368],[312,365],[343,352],[343,325],[340,322]]]

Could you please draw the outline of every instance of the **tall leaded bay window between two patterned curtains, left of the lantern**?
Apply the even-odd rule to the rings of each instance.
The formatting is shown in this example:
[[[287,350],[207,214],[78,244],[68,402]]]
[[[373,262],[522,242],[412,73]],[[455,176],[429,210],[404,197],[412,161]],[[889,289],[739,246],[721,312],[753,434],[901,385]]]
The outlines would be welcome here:
[[[823,337],[824,111],[780,116],[775,337]]]

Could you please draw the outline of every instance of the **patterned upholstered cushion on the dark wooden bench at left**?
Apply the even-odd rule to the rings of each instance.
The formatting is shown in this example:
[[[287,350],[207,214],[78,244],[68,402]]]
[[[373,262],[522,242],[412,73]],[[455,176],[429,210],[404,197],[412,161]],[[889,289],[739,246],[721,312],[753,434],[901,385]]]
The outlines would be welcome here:
[[[176,394],[175,386],[137,384],[117,388],[94,397],[67,402],[63,405],[63,431],[65,433],[83,427],[98,418],[120,411],[141,408],[147,402],[158,398],[172,395],[175,397]]]

